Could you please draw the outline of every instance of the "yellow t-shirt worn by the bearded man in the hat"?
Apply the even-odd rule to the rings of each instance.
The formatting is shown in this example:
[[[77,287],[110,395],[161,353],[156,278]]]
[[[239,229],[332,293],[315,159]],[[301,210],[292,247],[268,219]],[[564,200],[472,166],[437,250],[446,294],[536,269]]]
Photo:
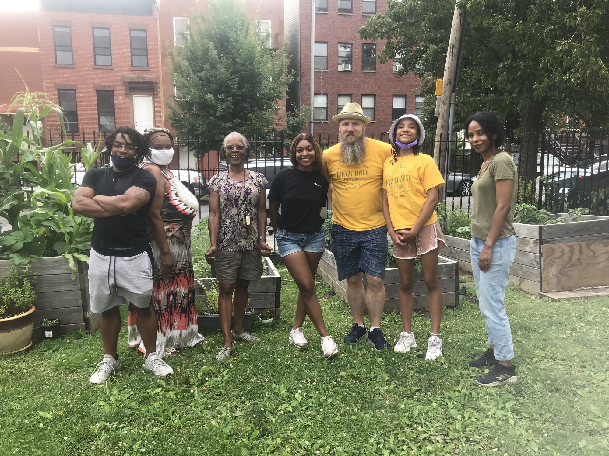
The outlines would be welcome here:
[[[323,151],[323,174],[332,184],[332,223],[365,231],[385,224],[382,216],[382,164],[391,146],[366,138],[364,163],[346,165],[340,143]]]

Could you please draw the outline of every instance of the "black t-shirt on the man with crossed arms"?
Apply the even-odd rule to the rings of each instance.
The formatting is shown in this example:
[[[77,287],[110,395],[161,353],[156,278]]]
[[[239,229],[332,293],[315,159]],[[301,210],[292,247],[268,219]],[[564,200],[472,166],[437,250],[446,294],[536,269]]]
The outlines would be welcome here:
[[[123,195],[130,187],[140,187],[150,194],[150,199],[135,214],[113,215],[95,219],[91,247],[100,254],[108,249],[139,249],[149,246],[148,212],[157,190],[157,179],[137,166],[122,173],[112,167],[91,168],[82,179],[82,187],[95,190],[96,195]]]

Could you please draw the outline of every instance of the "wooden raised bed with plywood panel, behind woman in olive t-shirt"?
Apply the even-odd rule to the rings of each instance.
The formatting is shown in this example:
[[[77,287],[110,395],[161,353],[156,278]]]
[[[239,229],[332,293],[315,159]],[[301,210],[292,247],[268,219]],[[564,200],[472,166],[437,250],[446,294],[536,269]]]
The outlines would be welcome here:
[[[524,291],[568,291],[609,285],[609,217],[583,215],[583,221],[525,225],[515,223],[516,258],[510,269],[510,283]],[[440,253],[459,261],[471,271],[470,240],[445,236]]]

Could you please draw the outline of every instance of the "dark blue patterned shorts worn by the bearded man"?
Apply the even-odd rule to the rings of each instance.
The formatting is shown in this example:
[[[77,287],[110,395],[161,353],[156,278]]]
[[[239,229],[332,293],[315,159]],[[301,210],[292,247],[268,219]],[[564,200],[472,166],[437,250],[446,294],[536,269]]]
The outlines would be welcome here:
[[[353,231],[333,224],[331,248],[336,258],[339,280],[345,280],[358,272],[385,278],[389,250],[386,226]]]

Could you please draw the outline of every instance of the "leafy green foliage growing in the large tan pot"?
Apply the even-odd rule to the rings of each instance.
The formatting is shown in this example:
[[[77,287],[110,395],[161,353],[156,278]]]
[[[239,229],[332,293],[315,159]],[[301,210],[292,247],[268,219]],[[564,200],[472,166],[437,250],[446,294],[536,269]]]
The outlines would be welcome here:
[[[33,277],[29,267],[17,269],[11,266],[9,277],[0,285],[0,318],[23,314],[36,302],[36,292],[32,288]]]

